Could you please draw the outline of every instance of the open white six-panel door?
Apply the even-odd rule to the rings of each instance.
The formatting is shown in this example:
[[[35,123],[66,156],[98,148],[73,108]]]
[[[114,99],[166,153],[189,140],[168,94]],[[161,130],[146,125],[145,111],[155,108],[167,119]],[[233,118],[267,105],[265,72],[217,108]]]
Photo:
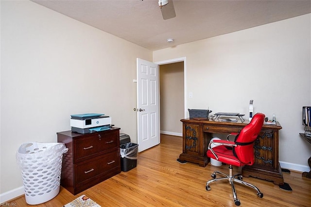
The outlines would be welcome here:
[[[137,58],[138,152],[160,143],[158,74],[155,63]]]

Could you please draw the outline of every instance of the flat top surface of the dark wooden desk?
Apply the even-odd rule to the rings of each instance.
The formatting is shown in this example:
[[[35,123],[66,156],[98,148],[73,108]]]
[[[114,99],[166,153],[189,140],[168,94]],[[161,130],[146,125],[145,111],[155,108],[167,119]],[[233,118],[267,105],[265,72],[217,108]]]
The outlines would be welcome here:
[[[218,126],[240,126],[244,127],[249,123],[248,120],[241,121],[237,119],[237,122],[230,122],[230,121],[220,121],[220,120],[212,120],[212,119],[206,119],[206,120],[195,120],[192,118],[182,119],[181,122],[191,122],[191,123],[202,123],[202,124],[208,124],[208,125],[218,125]],[[276,121],[276,125],[270,125],[270,124],[263,124],[262,128],[265,129],[282,129],[282,126],[278,121]]]

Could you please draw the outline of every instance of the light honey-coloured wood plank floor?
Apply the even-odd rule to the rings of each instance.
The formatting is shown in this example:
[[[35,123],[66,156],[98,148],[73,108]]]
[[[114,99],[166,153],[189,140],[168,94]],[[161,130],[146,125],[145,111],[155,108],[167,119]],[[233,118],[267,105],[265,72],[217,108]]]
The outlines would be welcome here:
[[[212,183],[210,191],[205,189],[211,173],[215,170],[227,173],[228,166],[208,164],[203,168],[192,163],[180,164],[176,159],[181,152],[182,138],[161,135],[161,144],[138,154],[136,168],[121,172],[77,195],[61,187],[54,199],[37,207],[62,207],[83,194],[102,207],[234,207],[231,186],[227,181]],[[236,184],[241,207],[310,207],[311,179],[301,177],[298,172],[283,173],[283,176],[293,192],[280,190],[272,182],[244,177],[243,180],[257,186],[264,196],[259,198],[255,190]],[[24,196],[9,204],[27,206]]]

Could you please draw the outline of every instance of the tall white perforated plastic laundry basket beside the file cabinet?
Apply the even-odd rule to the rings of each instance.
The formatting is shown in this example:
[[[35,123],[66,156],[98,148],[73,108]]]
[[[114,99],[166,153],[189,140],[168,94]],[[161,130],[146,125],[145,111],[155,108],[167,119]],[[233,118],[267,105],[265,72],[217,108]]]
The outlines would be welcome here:
[[[64,143],[29,142],[22,144],[16,159],[21,169],[27,204],[47,202],[59,193]]]

